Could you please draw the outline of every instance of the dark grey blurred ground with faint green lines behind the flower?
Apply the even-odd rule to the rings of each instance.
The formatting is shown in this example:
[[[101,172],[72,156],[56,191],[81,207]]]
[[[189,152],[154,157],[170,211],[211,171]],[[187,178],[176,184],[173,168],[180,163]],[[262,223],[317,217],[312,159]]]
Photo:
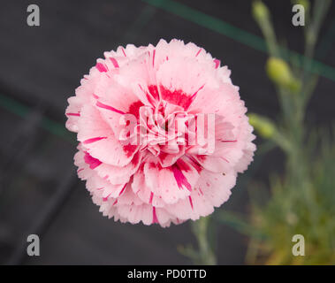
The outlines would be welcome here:
[[[264,2],[278,37],[285,38],[281,43],[302,54],[303,31],[292,25],[291,2]],[[27,26],[29,4],[40,7],[40,27]],[[195,244],[188,222],[163,229],[103,218],[76,177],[66,100],[103,51],[178,38],[228,65],[248,110],[275,119],[278,102],[264,72],[267,54],[251,2],[3,0],[1,5],[0,264],[190,264],[177,250]],[[324,65],[308,108],[310,124],[331,125],[334,118],[334,38],[332,2],[316,46],[316,60]],[[266,180],[270,171],[281,170],[282,161],[279,150],[255,157],[222,209],[247,213],[247,183]],[[218,230],[218,264],[243,264],[247,238],[228,226]],[[40,236],[41,256],[27,256],[31,233]]]

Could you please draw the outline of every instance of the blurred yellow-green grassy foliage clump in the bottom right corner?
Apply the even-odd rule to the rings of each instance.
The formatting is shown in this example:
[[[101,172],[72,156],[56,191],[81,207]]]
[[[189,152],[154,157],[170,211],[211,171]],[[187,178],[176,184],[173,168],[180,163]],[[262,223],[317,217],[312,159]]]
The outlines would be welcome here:
[[[316,145],[319,137],[322,142]],[[335,146],[324,132],[309,140],[314,142],[305,152],[308,162],[299,164],[307,174],[304,182],[296,184],[294,173],[272,175],[265,204],[261,200],[269,195],[267,186],[250,189],[250,221],[243,231],[251,238],[248,264],[335,264]],[[320,148],[317,153],[311,144]],[[304,236],[305,256],[293,256],[294,234]]]

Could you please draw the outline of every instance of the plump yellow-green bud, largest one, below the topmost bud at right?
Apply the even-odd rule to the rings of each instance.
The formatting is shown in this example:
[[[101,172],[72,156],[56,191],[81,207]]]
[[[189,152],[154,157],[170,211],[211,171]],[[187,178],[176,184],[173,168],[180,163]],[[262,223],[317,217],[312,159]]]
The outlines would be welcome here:
[[[270,57],[266,62],[266,72],[270,80],[278,86],[287,88],[292,92],[298,92],[301,88],[301,81],[294,78],[290,66],[280,58]]]

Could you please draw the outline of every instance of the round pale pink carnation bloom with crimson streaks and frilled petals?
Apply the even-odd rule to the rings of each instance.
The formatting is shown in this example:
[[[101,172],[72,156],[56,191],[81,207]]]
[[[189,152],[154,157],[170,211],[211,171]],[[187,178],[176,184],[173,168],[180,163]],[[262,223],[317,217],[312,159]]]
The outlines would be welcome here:
[[[104,57],[65,111],[93,202],[133,224],[170,226],[212,213],[255,151],[228,68],[178,40],[129,44]]]

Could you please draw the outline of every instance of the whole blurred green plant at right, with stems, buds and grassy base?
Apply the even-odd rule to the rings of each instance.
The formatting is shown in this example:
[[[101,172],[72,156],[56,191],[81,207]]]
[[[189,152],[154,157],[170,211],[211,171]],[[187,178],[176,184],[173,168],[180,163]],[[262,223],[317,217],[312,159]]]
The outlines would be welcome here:
[[[270,11],[262,1],[253,4],[252,14],[267,42],[266,71],[277,90],[281,114],[271,121],[251,113],[249,121],[260,136],[283,149],[286,165],[285,172],[272,173],[267,184],[250,186],[248,219],[227,211],[218,217],[249,236],[247,264],[335,264],[335,132],[310,129],[305,123],[317,82],[309,73],[310,64],[331,0],[315,1],[313,7],[307,0],[298,2],[308,11],[308,21],[304,59],[294,71],[291,64],[296,64],[286,61],[278,47]],[[294,234],[304,236],[305,256],[293,256]]]

